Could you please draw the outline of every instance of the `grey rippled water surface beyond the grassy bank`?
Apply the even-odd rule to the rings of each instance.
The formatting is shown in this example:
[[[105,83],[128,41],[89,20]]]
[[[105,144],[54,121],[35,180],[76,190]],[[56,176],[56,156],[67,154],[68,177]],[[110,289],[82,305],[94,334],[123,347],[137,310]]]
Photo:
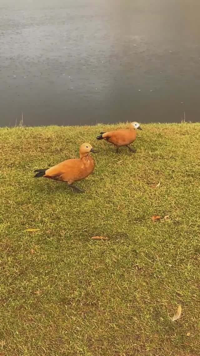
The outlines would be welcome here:
[[[0,126],[200,119],[199,0],[0,0]]]

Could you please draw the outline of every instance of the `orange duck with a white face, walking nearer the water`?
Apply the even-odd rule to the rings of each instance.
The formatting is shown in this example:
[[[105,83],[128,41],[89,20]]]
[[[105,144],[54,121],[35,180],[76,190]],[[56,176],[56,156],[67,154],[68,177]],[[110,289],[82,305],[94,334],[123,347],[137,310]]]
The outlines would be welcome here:
[[[115,130],[108,132],[100,132],[100,136],[97,136],[97,140],[107,140],[110,143],[113,143],[117,147],[116,152],[118,152],[119,147],[126,146],[129,151],[136,152],[136,150],[130,147],[130,143],[135,141],[136,130],[142,130],[138,122],[131,122],[128,130]]]

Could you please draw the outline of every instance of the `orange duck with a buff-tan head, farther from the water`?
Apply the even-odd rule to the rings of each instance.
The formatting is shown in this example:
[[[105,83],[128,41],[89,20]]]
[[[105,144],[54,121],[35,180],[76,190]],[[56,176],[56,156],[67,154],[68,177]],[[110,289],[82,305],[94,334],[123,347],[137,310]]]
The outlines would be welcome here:
[[[73,192],[84,192],[73,182],[89,176],[94,170],[94,161],[90,152],[96,153],[90,143],[83,143],[80,147],[80,158],[67,159],[51,168],[36,169],[35,178],[50,178],[66,182]]]

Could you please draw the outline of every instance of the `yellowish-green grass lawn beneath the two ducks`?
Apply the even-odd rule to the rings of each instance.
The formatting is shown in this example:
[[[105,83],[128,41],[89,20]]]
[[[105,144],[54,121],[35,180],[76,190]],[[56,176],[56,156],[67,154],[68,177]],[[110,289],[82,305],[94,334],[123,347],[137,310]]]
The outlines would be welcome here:
[[[0,356],[200,355],[200,124],[119,126],[0,129]],[[85,194],[33,178],[85,141]]]

